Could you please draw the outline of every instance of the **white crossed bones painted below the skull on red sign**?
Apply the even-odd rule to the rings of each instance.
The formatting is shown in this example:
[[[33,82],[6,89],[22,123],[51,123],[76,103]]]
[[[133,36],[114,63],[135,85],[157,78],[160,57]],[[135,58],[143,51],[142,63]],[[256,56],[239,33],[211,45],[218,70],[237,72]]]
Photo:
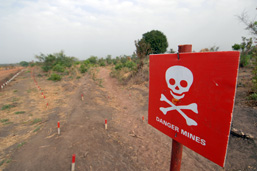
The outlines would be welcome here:
[[[176,106],[171,101],[169,101],[163,94],[161,94],[160,100],[165,101],[166,103],[171,105],[171,107],[167,107],[167,108],[160,107],[160,110],[162,111],[162,113],[164,115],[166,115],[168,111],[177,110],[184,117],[188,126],[196,126],[197,125],[197,123],[193,119],[189,118],[184,112],[181,111],[181,109],[188,109],[188,110],[192,110],[194,113],[198,113],[196,103],[191,103],[189,105]]]

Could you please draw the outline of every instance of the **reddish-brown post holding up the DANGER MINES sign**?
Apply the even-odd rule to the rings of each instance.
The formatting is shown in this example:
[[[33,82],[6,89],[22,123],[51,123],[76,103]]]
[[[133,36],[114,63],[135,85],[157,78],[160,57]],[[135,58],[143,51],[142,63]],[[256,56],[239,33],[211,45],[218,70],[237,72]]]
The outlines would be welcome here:
[[[192,45],[179,45],[178,53],[192,52]],[[182,161],[182,151],[183,145],[172,140],[172,150],[171,150],[171,161],[170,161],[170,170],[171,171],[180,171],[181,161]]]

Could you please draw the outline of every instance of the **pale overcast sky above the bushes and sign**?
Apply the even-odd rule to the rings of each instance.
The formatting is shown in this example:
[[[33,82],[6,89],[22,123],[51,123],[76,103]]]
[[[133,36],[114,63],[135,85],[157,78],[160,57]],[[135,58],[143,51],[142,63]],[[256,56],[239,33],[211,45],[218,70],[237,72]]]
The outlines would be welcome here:
[[[256,0],[0,0],[0,64],[35,60],[61,50],[90,56],[131,55],[151,30],[169,47],[231,51],[250,37],[237,15],[257,19]]]

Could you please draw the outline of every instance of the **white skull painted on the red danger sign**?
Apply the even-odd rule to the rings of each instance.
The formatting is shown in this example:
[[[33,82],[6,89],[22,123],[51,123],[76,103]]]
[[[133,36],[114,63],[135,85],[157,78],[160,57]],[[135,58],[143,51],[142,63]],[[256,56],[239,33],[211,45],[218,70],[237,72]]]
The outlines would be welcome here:
[[[165,79],[171,95],[182,99],[193,83],[193,74],[188,68],[175,65],[167,69]]]

